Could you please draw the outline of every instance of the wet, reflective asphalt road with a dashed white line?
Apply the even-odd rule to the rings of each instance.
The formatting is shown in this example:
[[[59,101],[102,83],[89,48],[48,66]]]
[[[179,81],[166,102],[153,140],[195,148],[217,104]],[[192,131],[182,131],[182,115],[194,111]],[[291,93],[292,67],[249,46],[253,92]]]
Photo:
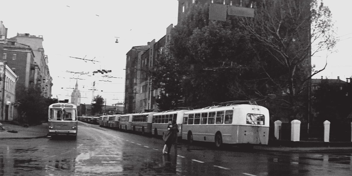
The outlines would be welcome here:
[[[352,175],[352,153],[214,150],[182,143],[165,156],[162,139],[83,122],[78,128],[77,140],[0,140],[0,176]]]

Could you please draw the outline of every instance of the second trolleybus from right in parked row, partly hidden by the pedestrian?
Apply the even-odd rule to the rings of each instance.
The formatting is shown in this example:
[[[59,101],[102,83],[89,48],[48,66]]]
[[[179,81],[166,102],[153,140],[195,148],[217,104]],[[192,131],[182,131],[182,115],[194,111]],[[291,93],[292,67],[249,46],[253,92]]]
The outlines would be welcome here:
[[[178,138],[182,137],[183,114],[190,110],[170,110],[153,114],[152,131],[155,137],[162,136],[167,131],[168,122],[176,120],[178,125]]]

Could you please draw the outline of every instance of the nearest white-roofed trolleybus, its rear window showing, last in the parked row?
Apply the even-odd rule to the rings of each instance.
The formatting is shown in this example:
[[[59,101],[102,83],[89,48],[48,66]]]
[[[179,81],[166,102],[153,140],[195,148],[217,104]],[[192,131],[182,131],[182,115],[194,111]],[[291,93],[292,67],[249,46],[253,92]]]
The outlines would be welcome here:
[[[182,139],[222,144],[268,144],[269,111],[258,105],[213,106],[183,115]],[[251,145],[253,146],[253,145]]]

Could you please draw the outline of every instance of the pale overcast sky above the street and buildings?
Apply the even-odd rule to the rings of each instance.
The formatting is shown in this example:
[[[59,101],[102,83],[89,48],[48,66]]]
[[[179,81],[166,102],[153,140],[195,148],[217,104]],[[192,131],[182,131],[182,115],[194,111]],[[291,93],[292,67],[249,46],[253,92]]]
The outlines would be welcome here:
[[[337,44],[337,52],[328,57],[328,67],[320,76],[342,80],[352,75],[352,1],[325,0],[338,27],[337,36],[344,39]],[[107,105],[123,102],[126,53],[132,46],[162,38],[166,27],[177,24],[177,0],[17,0],[2,1],[0,20],[8,28],[8,38],[16,33],[43,36],[45,55],[49,58],[53,78],[53,98],[69,99],[78,80],[81,103],[92,100],[92,83],[95,95],[101,95]],[[115,43],[119,37],[119,43]],[[71,57],[94,59],[84,62]],[[312,62],[321,68],[326,57],[313,57]],[[103,79],[101,74],[90,76],[72,73],[98,69],[112,70],[109,75],[119,78]],[[71,78],[71,79],[70,79]],[[104,80],[104,81],[99,81]],[[112,82],[107,82],[112,81]],[[84,86],[84,88],[83,88]],[[63,89],[62,89],[63,88]],[[101,92],[100,90],[103,90]]]

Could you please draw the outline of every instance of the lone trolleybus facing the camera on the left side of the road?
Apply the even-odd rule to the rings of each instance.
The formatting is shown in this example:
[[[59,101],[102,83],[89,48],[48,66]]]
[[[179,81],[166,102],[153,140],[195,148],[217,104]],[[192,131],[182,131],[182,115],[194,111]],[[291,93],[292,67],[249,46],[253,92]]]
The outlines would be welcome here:
[[[77,137],[77,107],[69,103],[54,103],[49,106],[49,136]]]

